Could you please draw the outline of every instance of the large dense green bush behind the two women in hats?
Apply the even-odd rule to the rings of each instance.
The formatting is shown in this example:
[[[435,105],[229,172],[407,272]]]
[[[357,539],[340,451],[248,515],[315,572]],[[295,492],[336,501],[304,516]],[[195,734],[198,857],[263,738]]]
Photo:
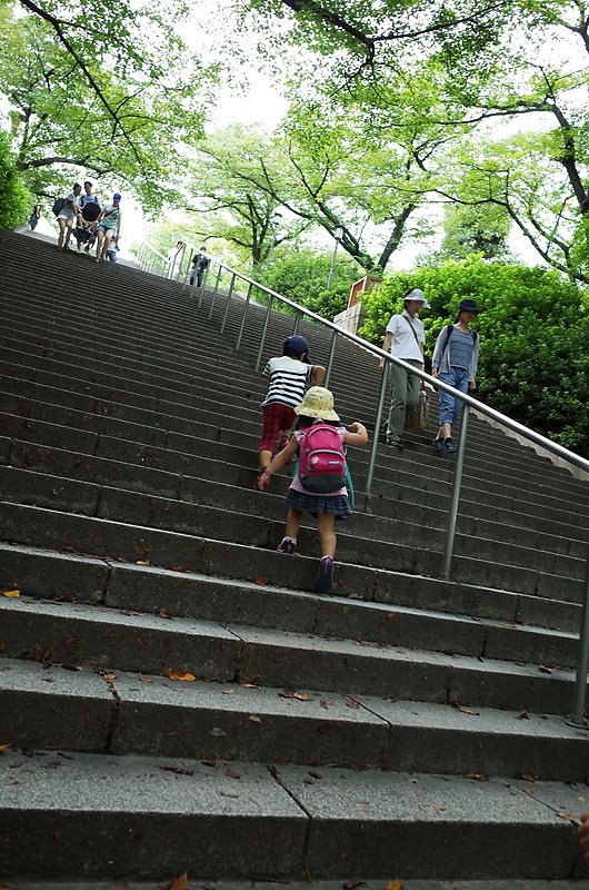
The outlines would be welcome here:
[[[482,400],[555,442],[589,457],[589,299],[587,291],[541,267],[469,257],[388,278],[370,293],[362,336],[381,344],[389,317],[408,287],[431,304],[420,317],[426,353],[453,320],[460,299],[481,314],[478,393]]]

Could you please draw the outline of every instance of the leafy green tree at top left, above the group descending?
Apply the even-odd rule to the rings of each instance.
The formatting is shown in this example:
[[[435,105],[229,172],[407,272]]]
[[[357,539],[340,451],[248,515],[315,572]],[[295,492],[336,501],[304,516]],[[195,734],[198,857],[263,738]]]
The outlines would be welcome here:
[[[36,192],[54,195],[80,168],[109,187],[127,184],[157,209],[177,199],[170,184],[181,179],[183,146],[202,135],[193,97],[204,75],[184,58],[166,13],[123,4],[121,20],[120,11],[97,34],[73,2],[59,20],[47,10],[14,18],[4,9],[0,91],[11,107],[17,166]],[[147,26],[152,41],[140,55]]]

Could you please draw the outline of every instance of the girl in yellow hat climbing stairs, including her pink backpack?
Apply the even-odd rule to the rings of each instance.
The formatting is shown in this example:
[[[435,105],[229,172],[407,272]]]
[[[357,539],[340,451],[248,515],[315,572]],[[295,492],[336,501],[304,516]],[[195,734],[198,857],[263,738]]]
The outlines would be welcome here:
[[[316,593],[329,593],[333,582],[336,555],[336,520],[345,520],[351,510],[346,488],[345,445],[366,445],[368,433],[363,424],[350,424],[346,429],[333,409],[333,396],[322,386],[311,386],[294,413],[298,421],[289,444],[276,455],[260,474],[257,487],[264,492],[270,477],[298,454],[298,473],[286,497],[289,507],[284,537],[278,545],[281,553],[294,553],[303,511],[317,523],[321,544],[321,561],[315,582]]]

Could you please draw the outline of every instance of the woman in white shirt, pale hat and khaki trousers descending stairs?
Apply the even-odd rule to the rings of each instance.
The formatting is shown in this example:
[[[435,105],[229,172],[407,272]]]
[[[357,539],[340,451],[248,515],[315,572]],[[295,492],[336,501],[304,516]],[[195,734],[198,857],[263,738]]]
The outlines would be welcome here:
[[[402,358],[409,365],[423,370],[423,343],[426,334],[423,323],[419,319],[420,309],[429,309],[423,291],[418,287],[410,287],[403,295],[403,310],[392,315],[387,325],[387,333],[382,348],[397,358]],[[389,417],[386,424],[387,445],[399,451],[403,449],[401,434],[405,428],[405,414],[408,407],[413,407],[419,402],[420,379],[403,368],[390,363],[391,369],[391,403]],[[385,359],[380,359],[380,370],[385,368]]]

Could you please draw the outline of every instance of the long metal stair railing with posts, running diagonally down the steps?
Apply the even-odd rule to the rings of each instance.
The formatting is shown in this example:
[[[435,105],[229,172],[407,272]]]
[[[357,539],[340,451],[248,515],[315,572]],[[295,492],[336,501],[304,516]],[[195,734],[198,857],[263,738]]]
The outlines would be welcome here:
[[[387,384],[388,384],[390,366],[397,365],[398,367],[403,368],[403,370],[410,372],[411,374],[419,377],[421,380],[425,380],[426,383],[430,384],[431,386],[433,386],[433,388],[442,389],[443,392],[449,393],[455,398],[459,398],[462,402],[460,434],[457,445],[457,459],[455,464],[452,494],[450,500],[450,511],[448,517],[446,546],[445,546],[442,573],[441,573],[443,580],[447,581],[450,580],[450,568],[451,568],[451,561],[453,553],[453,543],[456,537],[456,526],[458,520],[460,488],[462,484],[462,475],[465,466],[465,452],[466,452],[470,408],[476,408],[480,414],[483,414],[486,417],[489,417],[491,421],[495,421],[506,429],[510,429],[511,432],[517,433],[519,436],[522,436],[523,438],[528,439],[528,442],[531,442],[536,445],[540,445],[542,448],[550,452],[550,454],[553,454],[555,456],[565,461],[567,464],[577,466],[589,474],[589,461],[587,461],[585,457],[581,457],[579,454],[575,454],[575,452],[570,452],[568,448],[562,447],[562,445],[558,445],[556,442],[546,438],[539,433],[536,433],[536,431],[530,429],[527,426],[523,426],[517,421],[513,421],[511,417],[507,417],[507,415],[501,414],[495,408],[489,407],[489,405],[486,405],[483,402],[479,402],[478,399],[472,398],[472,396],[468,395],[468,393],[460,393],[458,389],[455,389],[455,387],[449,386],[448,384],[443,383],[442,380],[436,377],[432,377],[427,372],[420,370],[416,368],[413,365],[409,365],[407,362],[403,362],[401,358],[392,356],[390,353],[386,353],[380,347],[375,346],[373,344],[368,343],[367,340],[363,340],[357,334],[352,334],[348,330],[345,330],[341,327],[338,327],[338,325],[333,324],[333,322],[329,322],[327,318],[322,318],[320,315],[317,315],[317,313],[313,313],[311,309],[307,309],[305,306],[300,306],[298,303],[288,299],[288,297],[281,296],[276,290],[272,290],[271,288],[254,281],[252,278],[249,278],[247,275],[243,275],[242,273],[237,271],[236,269],[232,269],[229,266],[226,266],[223,263],[220,263],[211,258],[211,263],[209,269],[207,269],[207,273],[210,271],[211,267],[216,267],[217,275],[216,275],[214,290],[211,297],[209,318],[211,318],[212,316],[212,308],[214,305],[214,299],[217,298],[219,291],[219,285],[222,275],[226,274],[230,278],[230,286],[229,289],[226,291],[226,305],[223,310],[223,320],[221,330],[224,330],[230,303],[236,293],[234,290],[236,280],[239,279],[247,286],[246,297],[243,299],[243,307],[241,309],[241,319],[239,323],[238,335],[236,340],[237,350],[241,348],[248,310],[251,303],[253,301],[252,294],[254,289],[259,290],[266,297],[267,310],[264,314],[260,343],[258,346],[258,354],[256,358],[256,370],[259,370],[260,368],[272,306],[274,306],[276,304],[278,304],[279,306],[287,306],[294,312],[294,320],[292,326],[293,334],[298,332],[300,322],[303,317],[308,318],[311,322],[315,322],[316,324],[322,325],[323,327],[331,330],[331,343],[326,366],[327,370],[325,379],[326,387],[329,386],[329,378],[333,367],[333,360],[336,357],[339,337],[343,337],[349,343],[353,343],[357,346],[360,346],[362,349],[365,349],[365,352],[372,353],[375,359],[379,360],[382,358],[385,359],[385,372],[381,375],[379,397],[377,403],[377,414],[375,417],[375,426],[373,426],[375,435],[372,436],[369,464],[368,464],[368,476],[366,486],[367,503],[372,492],[372,483],[375,478],[375,467],[376,467],[377,451],[378,451],[378,431],[380,429],[382,423],[382,414],[387,396]],[[186,283],[186,277],[184,277],[184,283]],[[199,304],[198,304],[199,307],[202,303],[204,287],[206,287],[206,280],[202,281],[201,287],[199,288],[200,289]],[[191,293],[193,293],[193,290],[194,290],[194,285],[192,285]],[[587,563],[585,573],[583,603],[581,610],[581,624],[579,634],[579,654],[577,660],[577,672],[575,682],[573,713],[569,721],[571,725],[578,726],[580,729],[587,729],[587,724],[585,721],[585,704],[587,696],[588,670],[589,670],[589,543],[588,543],[588,553],[587,553]]]

